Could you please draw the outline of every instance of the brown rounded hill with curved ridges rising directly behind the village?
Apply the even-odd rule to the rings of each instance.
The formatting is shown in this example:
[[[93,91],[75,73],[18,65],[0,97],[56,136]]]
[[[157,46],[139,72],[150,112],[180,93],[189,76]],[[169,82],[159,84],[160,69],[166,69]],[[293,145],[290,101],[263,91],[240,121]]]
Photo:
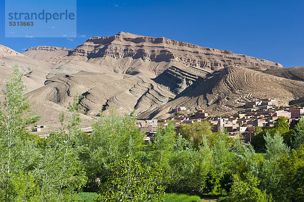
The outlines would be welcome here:
[[[190,110],[205,109],[214,115],[232,114],[247,101],[261,98],[282,103],[304,94],[304,82],[265,74],[248,68],[229,66],[189,86],[174,100],[148,109],[139,117],[166,117],[177,106]]]

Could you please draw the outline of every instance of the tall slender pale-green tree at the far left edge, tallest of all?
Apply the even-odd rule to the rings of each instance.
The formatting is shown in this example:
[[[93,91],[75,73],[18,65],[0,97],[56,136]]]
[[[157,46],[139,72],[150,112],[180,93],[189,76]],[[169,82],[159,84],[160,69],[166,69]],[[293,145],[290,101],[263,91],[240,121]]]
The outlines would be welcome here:
[[[6,80],[5,90],[1,90],[5,96],[5,101],[0,108],[0,189],[2,193],[0,199],[2,201],[15,201],[21,197],[17,188],[25,189],[26,185],[22,183],[16,185],[17,174],[30,176],[38,156],[34,148],[36,137],[29,133],[27,127],[37,122],[40,117],[34,116],[34,113],[29,110],[30,104],[24,97],[26,87],[21,77],[22,74],[15,65],[13,73]],[[31,200],[30,196],[26,198]]]

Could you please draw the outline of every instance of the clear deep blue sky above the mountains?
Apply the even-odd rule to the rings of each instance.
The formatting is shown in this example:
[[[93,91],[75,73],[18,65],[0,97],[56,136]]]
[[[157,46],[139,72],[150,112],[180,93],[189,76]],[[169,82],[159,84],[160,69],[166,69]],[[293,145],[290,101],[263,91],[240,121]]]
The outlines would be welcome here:
[[[5,1],[0,1],[0,44],[18,52],[40,45],[75,48],[89,37],[125,31],[304,66],[300,0],[78,0],[76,38],[5,38]]]

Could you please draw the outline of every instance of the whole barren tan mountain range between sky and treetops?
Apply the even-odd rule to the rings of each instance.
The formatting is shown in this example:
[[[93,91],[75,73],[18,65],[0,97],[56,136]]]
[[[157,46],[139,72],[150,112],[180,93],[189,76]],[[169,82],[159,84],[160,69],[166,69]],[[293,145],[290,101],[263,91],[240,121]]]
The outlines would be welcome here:
[[[88,123],[100,109],[135,109],[138,118],[164,118],[185,106],[220,115],[238,111],[246,101],[273,98],[288,103],[304,93],[304,67],[283,68],[164,37],[120,32],[91,37],[75,49],[39,46],[23,55],[0,48],[1,83],[17,63],[33,108],[46,114],[47,123],[56,122],[56,114],[77,93],[83,95],[80,104]]]

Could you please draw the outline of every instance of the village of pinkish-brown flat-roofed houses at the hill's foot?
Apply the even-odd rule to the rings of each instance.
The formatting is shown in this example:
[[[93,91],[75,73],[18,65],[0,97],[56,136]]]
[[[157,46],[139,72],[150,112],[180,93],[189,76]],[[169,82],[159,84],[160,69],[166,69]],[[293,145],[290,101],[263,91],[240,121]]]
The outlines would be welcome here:
[[[248,143],[254,136],[255,129],[269,129],[274,126],[274,123],[279,116],[284,116],[288,120],[289,126],[292,128],[298,122],[301,115],[304,114],[304,97],[298,100],[291,101],[294,106],[282,106],[274,99],[260,99],[256,101],[246,102],[242,110],[230,116],[211,116],[204,110],[198,110],[195,113],[187,113],[186,107],[176,107],[175,115],[167,119],[151,119],[138,120],[137,126],[141,131],[145,131],[145,141],[153,138],[157,132],[158,126],[166,126],[171,121],[178,132],[179,127],[184,124],[193,124],[195,122],[209,122],[213,125],[214,133],[225,131],[231,137],[236,137],[241,134],[243,141]]]

